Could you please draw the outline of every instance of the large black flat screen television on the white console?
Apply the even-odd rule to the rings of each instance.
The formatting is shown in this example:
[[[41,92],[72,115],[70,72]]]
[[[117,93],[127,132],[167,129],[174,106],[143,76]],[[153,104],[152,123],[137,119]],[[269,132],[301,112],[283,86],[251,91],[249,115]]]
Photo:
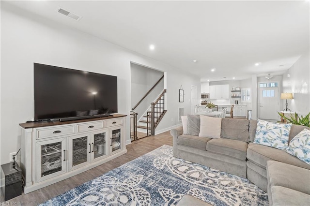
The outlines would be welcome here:
[[[117,76],[34,63],[34,119],[72,120],[117,113]]]

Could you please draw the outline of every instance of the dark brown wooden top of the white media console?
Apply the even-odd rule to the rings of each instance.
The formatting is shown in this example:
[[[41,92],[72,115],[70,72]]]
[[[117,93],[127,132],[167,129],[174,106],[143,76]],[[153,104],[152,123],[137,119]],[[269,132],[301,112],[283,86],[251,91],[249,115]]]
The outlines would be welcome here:
[[[24,129],[29,129],[29,128],[36,128],[36,127],[48,127],[48,126],[56,126],[56,125],[63,125],[63,124],[96,121],[96,120],[110,119],[110,118],[121,118],[121,117],[126,117],[126,116],[127,115],[114,114],[114,115],[110,115],[109,117],[78,119],[78,120],[70,120],[70,121],[54,121],[54,122],[36,121],[36,122],[20,123],[19,126],[21,126]]]

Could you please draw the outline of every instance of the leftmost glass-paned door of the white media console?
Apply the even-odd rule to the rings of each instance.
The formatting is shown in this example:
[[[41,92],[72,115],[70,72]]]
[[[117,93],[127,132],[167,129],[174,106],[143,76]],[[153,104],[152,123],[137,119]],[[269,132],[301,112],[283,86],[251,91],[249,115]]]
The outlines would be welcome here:
[[[36,143],[37,182],[66,172],[65,142],[65,138],[59,138]]]

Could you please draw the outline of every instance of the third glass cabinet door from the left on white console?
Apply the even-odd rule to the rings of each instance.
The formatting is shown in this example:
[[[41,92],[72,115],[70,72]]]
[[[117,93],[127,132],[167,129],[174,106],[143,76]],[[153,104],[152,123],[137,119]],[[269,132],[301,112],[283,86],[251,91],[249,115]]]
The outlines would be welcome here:
[[[92,142],[94,146],[92,153],[92,160],[99,160],[108,156],[107,131],[108,130],[102,130],[99,132],[92,133]]]

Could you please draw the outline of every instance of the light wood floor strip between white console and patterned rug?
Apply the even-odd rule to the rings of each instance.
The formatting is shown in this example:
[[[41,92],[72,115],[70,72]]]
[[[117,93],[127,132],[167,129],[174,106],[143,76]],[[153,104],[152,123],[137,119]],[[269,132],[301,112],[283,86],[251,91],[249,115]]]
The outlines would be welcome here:
[[[28,194],[22,193],[22,195],[9,200],[8,202],[13,202],[22,206],[39,205],[59,194],[69,191],[78,185],[93,179],[94,177],[101,176],[102,174],[105,174],[110,170],[119,167],[126,162],[134,160],[137,157],[140,157],[163,145],[172,146],[172,136],[170,135],[170,131],[136,140],[126,146],[128,152],[120,157],[117,157],[109,162],[94,167],[93,169],[78,174],[74,177],[62,180],[40,190],[36,190]]]

